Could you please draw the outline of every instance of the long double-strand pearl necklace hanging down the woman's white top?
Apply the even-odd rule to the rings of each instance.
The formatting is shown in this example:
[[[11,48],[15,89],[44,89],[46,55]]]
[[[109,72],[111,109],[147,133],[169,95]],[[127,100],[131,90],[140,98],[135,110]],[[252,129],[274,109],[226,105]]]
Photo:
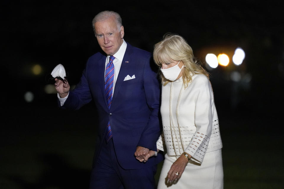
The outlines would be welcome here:
[[[175,138],[177,139],[178,141],[178,137],[177,137],[177,134],[175,132],[175,126],[174,126],[174,122],[172,120],[172,83],[171,82],[171,89],[170,89],[170,129],[171,129],[171,136],[172,136],[172,146],[174,148],[174,151],[175,151],[175,155],[176,156],[179,156],[176,149],[175,149],[175,143],[174,143],[174,138],[173,138],[173,133],[172,133],[172,130],[174,130],[174,134],[175,134]],[[177,122],[178,122],[178,131],[179,131],[179,134],[180,134],[180,124],[179,124],[179,120],[178,120],[178,106],[180,105],[180,97],[181,97],[181,94],[183,92],[183,86],[184,86],[184,83],[182,84],[181,86],[181,89],[180,89],[180,94],[178,95],[178,102],[177,102],[177,107],[176,107],[176,118],[177,118]],[[181,143],[181,147],[183,149],[183,152],[184,152],[184,146],[183,146],[183,138],[180,134],[180,143]],[[180,144],[179,144],[179,141],[178,141],[178,151],[180,152]],[[182,154],[183,152],[180,152],[180,154]]]

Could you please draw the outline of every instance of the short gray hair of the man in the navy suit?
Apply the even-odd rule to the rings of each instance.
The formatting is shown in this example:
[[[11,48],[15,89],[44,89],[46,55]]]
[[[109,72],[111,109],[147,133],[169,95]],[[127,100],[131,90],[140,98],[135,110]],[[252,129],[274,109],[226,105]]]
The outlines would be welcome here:
[[[96,30],[95,30],[95,23],[96,22],[101,22],[104,21],[106,19],[109,19],[111,17],[114,17],[116,19],[116,23],[117,23],[117,29],[120,31],[120,27],[122,26],[122,19],[120,17],[120,15],[117,12],[114,11],[102,11],[99,14],[97,14],[92,21],[92,25],[93,25],[93,29],[96,35]]]

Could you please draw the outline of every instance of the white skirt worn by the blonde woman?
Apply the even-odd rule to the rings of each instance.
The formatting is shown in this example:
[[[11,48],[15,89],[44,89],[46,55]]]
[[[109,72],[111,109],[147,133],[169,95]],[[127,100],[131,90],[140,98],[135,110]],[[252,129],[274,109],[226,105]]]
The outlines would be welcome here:
[[[163,188],[189,188],[189,189],[222,189],[223,188],[223,164],[222,151],[207,152],[202,164],[192,160],[188,162],[183,174],[177,182],[167,184],[167,174],[177,158],[165,155],[164,164],[159,178],[158,189]]]

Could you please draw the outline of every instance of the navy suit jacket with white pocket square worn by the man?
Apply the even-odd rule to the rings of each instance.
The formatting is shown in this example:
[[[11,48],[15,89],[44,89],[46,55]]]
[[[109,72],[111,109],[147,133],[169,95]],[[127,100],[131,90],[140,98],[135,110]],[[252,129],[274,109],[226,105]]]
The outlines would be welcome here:
[[[104,94],[106,56],[96,53],[91,56],[76,88],[69,92],[63,108],[79,109],[93,100],[98,109],[98,138],[94,162],[105,140],[108,121],[117,160],[124,169],[143,169],[163,160],[163,155],[151,157],[141,163],[135,159],[137,146],[157,150],[156,141],[161,133],[159,119],[160,86],[157,74],[150,63],[151,53],[127,43],[125,55],[114,88],[112,105],[107,108]],[[135,79],[123,81],[135,75]],[[91,118],[90,118],[91,119]]]

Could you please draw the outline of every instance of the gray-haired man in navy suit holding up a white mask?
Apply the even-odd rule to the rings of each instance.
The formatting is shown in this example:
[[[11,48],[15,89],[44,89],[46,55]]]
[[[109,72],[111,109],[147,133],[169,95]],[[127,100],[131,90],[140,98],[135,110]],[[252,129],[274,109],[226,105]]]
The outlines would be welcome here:
[[[116,12],[97,14],[93,29],[104,53],[88,59],[74,90],[70,91],[68,82],[55,79],[62,108],[76,110],[93,100],[98,109],[90,188],[154,188],[154,175],[163,155],[138,161],[146,158],[149,150],[157,151],[161,131],[160,89],[151,68],[151,53],[125,42]],[[107,75],[112,75],[109,84]]]

